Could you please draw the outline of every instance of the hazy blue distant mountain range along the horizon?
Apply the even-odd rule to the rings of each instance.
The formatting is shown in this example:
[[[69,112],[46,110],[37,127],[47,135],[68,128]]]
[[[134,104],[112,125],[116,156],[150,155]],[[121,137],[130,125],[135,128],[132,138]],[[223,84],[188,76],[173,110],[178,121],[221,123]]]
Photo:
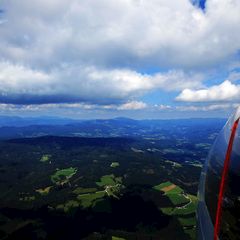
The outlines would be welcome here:
[[[174,132],[191,136],[206,129],[219,131],[226,119],[133,120],[129,118],[74,120],[68,118],[21,118],[0,116],[0,139],[52,136],[142,137]],[[185,134],[185,135],[184,135]]]

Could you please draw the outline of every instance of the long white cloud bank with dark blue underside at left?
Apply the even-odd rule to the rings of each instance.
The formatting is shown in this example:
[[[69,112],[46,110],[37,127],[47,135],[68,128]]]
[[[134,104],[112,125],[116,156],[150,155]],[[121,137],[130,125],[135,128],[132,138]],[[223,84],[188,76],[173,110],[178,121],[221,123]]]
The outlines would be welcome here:
[[[0,62],[0,102],[116,104],[152,89],[176,91],[200,87],[201,81],[201,75],[182,71],[147,75],[129,69],[106,70],[87,66],[39,71]]]

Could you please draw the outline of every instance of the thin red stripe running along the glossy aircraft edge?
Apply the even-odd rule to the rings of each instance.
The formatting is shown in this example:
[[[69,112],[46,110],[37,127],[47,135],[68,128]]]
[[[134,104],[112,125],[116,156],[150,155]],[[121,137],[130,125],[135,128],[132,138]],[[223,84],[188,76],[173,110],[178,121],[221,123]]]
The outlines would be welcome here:
[[[228,143],[228,148],[227,148],[225,161],[224,161],[222,178],[221,178],[219,195],[218,195],[216,220],[215,220],[215,226],[214,226],[214,240],[218,240],[218,236],[219,236],[219,233],[220,233],[223,195],[224,195],[224,192],[225,192],[228,170],[229,170],[229,165],[230,165],[230,160],[231,160],[232,147],[233,147],[234,137],[236,135],[238,123],[239,123],[239,119],[237,119],[234,122],[232,131],[231,131],[230,140],[229,140],[229,143]]]

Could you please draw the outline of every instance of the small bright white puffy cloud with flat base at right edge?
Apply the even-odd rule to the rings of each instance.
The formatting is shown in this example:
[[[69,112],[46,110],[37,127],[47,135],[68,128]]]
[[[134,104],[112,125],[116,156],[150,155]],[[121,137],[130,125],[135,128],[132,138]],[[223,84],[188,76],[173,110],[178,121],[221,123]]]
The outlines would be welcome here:
[[[184,89],[178,101],[184,102],[211,102],[211,101],[231,101],[240,98],[240,85],[235,85],[226,80],[220,85],[215,85],[207,89],[191,90]]]

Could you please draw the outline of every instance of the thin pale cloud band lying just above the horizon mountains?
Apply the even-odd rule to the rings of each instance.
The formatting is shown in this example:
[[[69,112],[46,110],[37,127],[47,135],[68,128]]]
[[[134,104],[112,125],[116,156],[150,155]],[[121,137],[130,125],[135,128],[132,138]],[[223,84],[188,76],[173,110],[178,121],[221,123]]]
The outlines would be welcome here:
[[[233,111],[240,106],[240,102],[237,103],[223,103],[223,104],[210,104],[210,105],[179,105],[179,106],[170,106],[170,105],[150,105],[142,101],[131,101],[124,104],[110,104],[110,105],[97,105],[97,104],[86,104],[86,103],[61,103],[61,104],[30,104],[30,105],[19,105],[19,104],[0,104],[0,113],[9,114],[9,113],[18,113],[18,114],[34,114],[39,112],[51,115],[59,114],[68,116],[76,116],[78,114],[86,114],[92,112],[95,114],[106,112],[120,113],[124,111],[132,112],[139,110],[146,110],[148,113],[158,114],[162,113],[180,113],[180,112],[205,112],[207,114],[213,112],[227,112]],[[63,112],[64,110],[64,112]],[[120,115],[121,116],[121,115]],[[206,116],[206,115],[205,115]],[[224,115],[226,116],[226,115]]]

